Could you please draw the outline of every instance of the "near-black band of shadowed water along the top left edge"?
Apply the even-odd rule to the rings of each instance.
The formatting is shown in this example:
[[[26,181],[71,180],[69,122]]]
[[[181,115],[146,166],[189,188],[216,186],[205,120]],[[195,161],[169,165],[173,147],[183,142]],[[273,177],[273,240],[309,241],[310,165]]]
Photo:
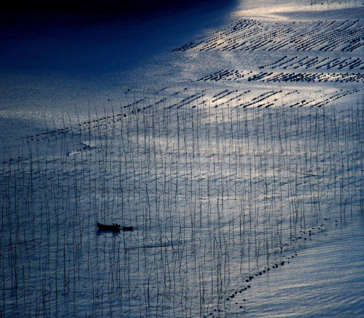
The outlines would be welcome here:
[[[0,41],[18,37],[39,25],[46,29],[55,24],[89,25],[120,20],[149,20],[181,12],[195,15],[236,6],[238,0],[36,0],[16,5],[2,4],[0,10]]]

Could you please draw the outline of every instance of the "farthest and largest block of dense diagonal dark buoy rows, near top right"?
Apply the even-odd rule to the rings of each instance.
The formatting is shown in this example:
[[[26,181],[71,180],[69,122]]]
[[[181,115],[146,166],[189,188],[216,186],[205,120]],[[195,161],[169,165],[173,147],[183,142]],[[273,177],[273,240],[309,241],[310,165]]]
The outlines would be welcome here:
[[[339,23],[339,24],[338,24]],[[348,24],[349,23],[349,24]],[[351,24],[350,24],[351,23]],[[212,36],[190,42],[174,49],[185,50],[281,50],[291,48],[296,50],[324,50],[339,49],[353,51],[364,45],[363,28],[349,29],[356,21],[319,21],[296,24],[295,22],[278,25],[277,23],[264,25],[255,22],[255,27],[243,27],[237,22],[227,29],[216,31]],[[331,27],[331,31],[326,29]],[[315,61],[316,62],[316,61]]]

